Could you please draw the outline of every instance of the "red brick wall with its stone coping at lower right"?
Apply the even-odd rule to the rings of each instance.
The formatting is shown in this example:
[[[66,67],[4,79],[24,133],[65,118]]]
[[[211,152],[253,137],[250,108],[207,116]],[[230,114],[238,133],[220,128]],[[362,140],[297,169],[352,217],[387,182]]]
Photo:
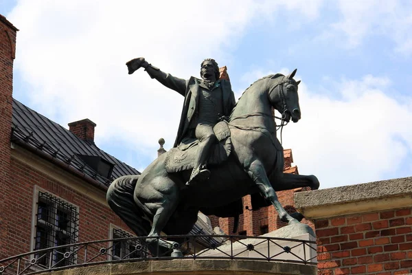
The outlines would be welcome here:
[[[318,274],[412,273],[412,177],[295,195],[314,221]]]

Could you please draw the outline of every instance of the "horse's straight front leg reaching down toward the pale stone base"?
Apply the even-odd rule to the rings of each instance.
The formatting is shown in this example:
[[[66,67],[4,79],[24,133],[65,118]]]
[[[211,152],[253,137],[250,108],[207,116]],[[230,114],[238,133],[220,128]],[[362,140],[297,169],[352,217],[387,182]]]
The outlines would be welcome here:
[[[264,166],[258,159],[255,159],[246,171],[249,177],[251,177],[251,179],[258,186],[260,193],[264,196],[264,198],[269,199],[273,206],[275,206],[277,214],[279,214],[282,221],[286,221],[289,224],[299,223],[299,221],[290,216],[290,214],[288,214],[288,212],[286,212],[283,208],[282,204],[279,203],[276,192],[266,175],[266,170],[264,170]]]

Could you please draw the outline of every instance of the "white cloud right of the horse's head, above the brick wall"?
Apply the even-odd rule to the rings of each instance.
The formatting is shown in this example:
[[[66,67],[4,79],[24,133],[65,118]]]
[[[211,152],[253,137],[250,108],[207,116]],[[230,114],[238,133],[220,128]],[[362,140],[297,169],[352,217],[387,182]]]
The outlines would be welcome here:
[[[336,89],[341,100],[299,85],[302,119],[286,126],[283,137],[299,173],[317,175],[321,188],[329,188],[396,172],[412,151],[412,98],[393,100],[385,77],[342,80]]]

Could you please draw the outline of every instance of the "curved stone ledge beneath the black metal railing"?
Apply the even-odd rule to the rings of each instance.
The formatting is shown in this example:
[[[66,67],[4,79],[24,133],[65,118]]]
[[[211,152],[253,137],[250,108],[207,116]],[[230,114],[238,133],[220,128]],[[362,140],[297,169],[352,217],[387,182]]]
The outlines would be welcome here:
[[[317,267],[296,263],[279,263],[267,261],[241,260],[185,260],[170,261],[140,261],[135,263],[106,263],[90,267],[77,267],[69,270],[45,272],[43,275],[211,275],[211,274],[238,274],[238,275],[316,275]]]

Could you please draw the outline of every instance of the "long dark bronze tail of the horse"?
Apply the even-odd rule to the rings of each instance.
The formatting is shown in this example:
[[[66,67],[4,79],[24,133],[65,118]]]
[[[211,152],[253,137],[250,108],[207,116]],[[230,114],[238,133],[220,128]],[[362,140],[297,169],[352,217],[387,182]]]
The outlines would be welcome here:
[[[148,236],[152,226],[133,196],[137,179],[139,175],[126,175],[115,179],[108,187],[106,199],[108,206],[137,236]]]

